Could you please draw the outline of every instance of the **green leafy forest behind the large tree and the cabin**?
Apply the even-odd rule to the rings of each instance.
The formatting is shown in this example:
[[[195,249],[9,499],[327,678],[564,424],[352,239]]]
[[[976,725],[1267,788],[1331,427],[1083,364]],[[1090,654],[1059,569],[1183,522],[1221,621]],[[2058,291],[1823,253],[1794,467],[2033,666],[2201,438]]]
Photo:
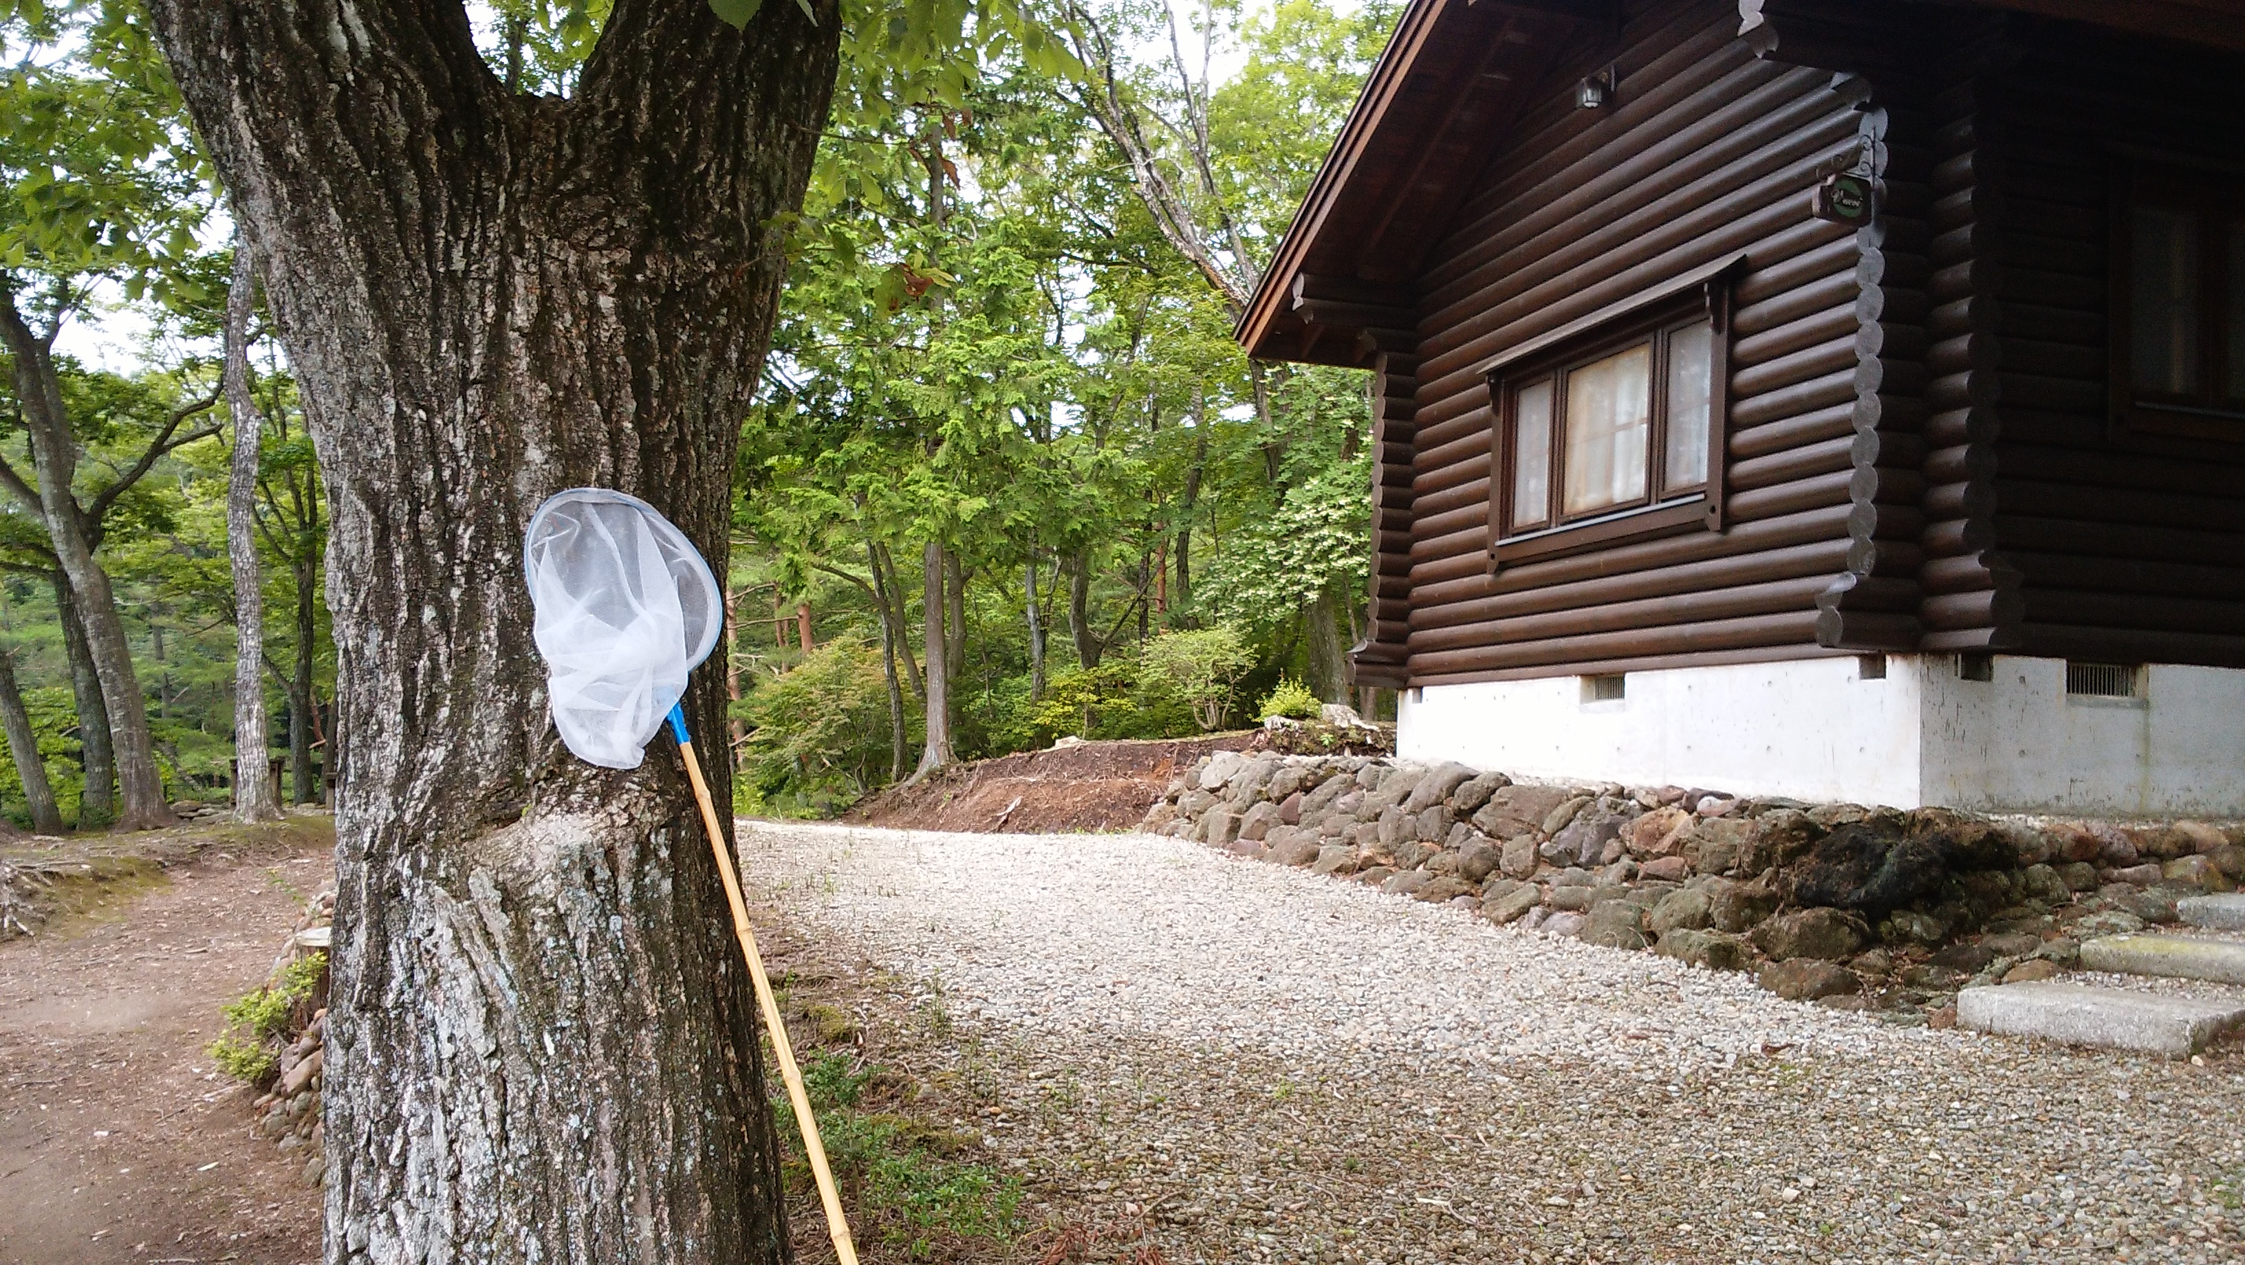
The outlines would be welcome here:
[[[505,83],[568,94],[604,4],[471,18]],[[1030,38],[963,29],[932,70],[844,74],[734,473],[739,807],[831,814],[1069,733],[1347,698],[1367,381],[1248,361],[1230,325],[1392,20],[1385,0],[1057,0],[1021,11]],[[47,825],[112,821],[135,740],[166,798],[227,798],[229,487],[260,561],[267,758],[285,798],[323,794],[326,493],[263,307],[229,330],[233,278],[224,191],[137,4],[0,0],[0,812],[20,825],[40,798]],[[76,545],[106,585],[65,574]]]

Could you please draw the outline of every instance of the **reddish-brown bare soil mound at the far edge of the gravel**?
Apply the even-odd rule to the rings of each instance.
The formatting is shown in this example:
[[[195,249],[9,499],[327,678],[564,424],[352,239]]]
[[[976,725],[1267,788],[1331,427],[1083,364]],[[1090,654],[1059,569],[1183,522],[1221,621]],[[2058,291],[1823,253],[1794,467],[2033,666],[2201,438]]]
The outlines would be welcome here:
[[[1244,729],[1208,738],[1075,742],[959,765],[858,805],[849,821],[909,830],[1136,830],[1179,769],[1210,751],[1268,742]]]

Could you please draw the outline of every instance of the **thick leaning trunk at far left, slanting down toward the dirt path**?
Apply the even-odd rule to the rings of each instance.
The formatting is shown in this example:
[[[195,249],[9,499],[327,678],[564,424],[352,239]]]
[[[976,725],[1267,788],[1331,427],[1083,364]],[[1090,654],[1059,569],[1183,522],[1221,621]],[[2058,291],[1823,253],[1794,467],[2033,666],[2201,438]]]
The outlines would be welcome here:
[[[117,825],[155,830],[171,825],[164,803],[164,776],[155,767],[155,740],[148,736],[148,700],[132,673],[132,644],[117,617],[117,594],[110,574],[94,561],[92,525],[79,509],[72,480],[79,469],[76,440],[63,410],[63,388],[54,375],[52,336],[38,339],[25,325],[13,296],[0,303],[0,341],[16,359],[16,399],[22,406],[25,433],[31,440],[31,464],[38,469],[38,502],[54,556],[70,579],[70,597],[85,626],[85,648],[101,680],[101,704],[110,718],[110,751],[117,760],[117,787],[123,812]]]

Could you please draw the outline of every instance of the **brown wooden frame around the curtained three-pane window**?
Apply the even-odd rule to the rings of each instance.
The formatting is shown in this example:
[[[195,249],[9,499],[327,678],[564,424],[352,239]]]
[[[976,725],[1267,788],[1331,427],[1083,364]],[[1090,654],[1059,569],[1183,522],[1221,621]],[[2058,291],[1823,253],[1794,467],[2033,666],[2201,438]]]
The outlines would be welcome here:
[[[1491,408],[1488,464],[1488,565],[1497,567],[1529,558],[1551,558],[1646,541],[1684,532],[1722,532],[1724,453],[1729,449],[1729,379],[1731,379],[1731,280],[1742,271],[1744,256],[1697,269],[1650,294],[1574,321],[1542,339],[1533,339],[1484,368]],[[1699,482],[1664,487],[1668,473],[1668,359],[1664,345],[1679,327],[1708,323],[1708,419],[1706,471]],[[1567,478],[1567,410],[1565,379],[1572,370],[1652,343],[1646,491],[1625,505],[1565,514]],[[1549,471],[1545,482],[1547,514],[1540,525],[1513,529],[1513,484],[1518,464],[1518,393],[1540,381],[1551,384]]]

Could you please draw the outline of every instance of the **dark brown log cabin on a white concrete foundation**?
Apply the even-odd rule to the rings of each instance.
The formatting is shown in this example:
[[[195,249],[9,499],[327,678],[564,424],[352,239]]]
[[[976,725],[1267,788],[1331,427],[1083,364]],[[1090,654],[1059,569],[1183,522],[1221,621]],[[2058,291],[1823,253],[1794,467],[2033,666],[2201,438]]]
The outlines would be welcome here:
[[[1412,0],[1237,334],[1405,758],[2245,816],[2245,0]]]

